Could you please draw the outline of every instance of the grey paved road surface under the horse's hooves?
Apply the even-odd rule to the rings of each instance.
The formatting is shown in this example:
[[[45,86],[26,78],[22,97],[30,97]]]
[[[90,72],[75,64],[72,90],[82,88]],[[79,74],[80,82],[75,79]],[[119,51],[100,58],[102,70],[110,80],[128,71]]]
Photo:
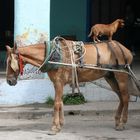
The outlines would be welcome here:
[[[47,135],[51,116],[41,119],[0,119],[0,140],[140,140],[140,115],[130,115],[125,131],[115,131],[111,115],[69,115],[63,130]]]

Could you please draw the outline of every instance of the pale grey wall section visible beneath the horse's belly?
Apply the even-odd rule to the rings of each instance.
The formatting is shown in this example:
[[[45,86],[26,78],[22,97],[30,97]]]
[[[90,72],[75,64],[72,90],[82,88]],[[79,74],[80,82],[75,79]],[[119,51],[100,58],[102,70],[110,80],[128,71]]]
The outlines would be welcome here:
[[[94,81],[95,82],[95,81]],[[80,84],[80,92],[84,95],[87,101],[116,101],[118,96],[115,92],[110,89],[110,86],[106,83],[104,79],[96,80],[98,84],[105,86],[101,88],[92,82],[86,82],[85,85]],[[75,90],[75,92],[77,92]],[[67,85],[64,89],[64,93],[71,93],[71,88]]]

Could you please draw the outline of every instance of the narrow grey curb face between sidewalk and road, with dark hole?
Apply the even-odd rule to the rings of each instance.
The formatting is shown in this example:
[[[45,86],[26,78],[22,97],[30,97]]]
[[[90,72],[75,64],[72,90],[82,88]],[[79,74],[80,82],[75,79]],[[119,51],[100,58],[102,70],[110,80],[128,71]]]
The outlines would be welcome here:
[[[64,110],[65,116],[74,116],[74,115],[92,115],[94,116],[115,116],[116,110]],[[140,109],[129,110],[128,116],[140,114]],[[53,116],[53,109],[45,110],[16,110],[16,111],[0,111],[0,119],[41,119]]]

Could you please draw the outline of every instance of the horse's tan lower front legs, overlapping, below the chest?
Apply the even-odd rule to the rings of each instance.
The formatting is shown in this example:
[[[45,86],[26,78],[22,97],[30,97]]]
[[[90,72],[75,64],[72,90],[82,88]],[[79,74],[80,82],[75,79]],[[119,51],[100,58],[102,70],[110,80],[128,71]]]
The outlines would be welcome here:
[[[59,132],[61,130],[61,125],[64,122],[64,113],[63,113],[63,103],[62,103],[62,95],[63,95],[63,84],[59,82],[55,82],[55,102],[54,102],[54,118],[52,131]]]

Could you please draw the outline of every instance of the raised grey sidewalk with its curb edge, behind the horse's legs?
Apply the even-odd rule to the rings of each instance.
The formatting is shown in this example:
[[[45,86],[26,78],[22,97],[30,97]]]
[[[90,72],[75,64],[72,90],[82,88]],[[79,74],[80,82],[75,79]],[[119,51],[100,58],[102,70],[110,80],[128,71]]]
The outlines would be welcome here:
[[[89,102],[82,105],[64,105],[65,115],[114,115],[117,101]],[[53,107],[45,104],[0,106],[0,119],[36,119],[52,116]],[[129,114],[140,114],[140,102],[130,102]]]

